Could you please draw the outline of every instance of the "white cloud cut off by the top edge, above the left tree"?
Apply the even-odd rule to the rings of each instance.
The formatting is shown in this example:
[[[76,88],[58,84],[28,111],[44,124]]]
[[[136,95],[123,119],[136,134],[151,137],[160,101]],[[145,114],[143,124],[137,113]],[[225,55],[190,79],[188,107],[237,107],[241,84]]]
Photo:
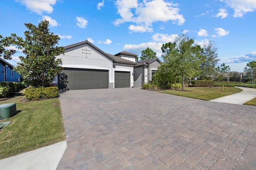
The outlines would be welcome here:
[[[27,10],[35,12],[36,14],[42,15],[46,12],[51,14],[53,12],[52,6],[54,6],[57,0],[15,0],[26,6]]]

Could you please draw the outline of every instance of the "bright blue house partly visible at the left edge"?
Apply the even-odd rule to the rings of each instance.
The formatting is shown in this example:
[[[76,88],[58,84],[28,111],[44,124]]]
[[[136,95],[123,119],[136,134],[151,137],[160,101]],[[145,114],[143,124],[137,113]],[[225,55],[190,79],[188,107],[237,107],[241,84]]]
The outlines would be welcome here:
[[[12,64],[0,58],[0,82],[20,82],[20,74],[13,68]]]

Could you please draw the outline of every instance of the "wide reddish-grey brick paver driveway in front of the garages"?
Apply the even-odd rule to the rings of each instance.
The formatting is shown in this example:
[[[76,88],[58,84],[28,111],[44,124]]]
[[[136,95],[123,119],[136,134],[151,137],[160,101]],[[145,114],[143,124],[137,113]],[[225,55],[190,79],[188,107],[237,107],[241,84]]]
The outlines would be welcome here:
[[[67,149],[58,170],[256,167],[256,107],[139,88],[60,95]]]

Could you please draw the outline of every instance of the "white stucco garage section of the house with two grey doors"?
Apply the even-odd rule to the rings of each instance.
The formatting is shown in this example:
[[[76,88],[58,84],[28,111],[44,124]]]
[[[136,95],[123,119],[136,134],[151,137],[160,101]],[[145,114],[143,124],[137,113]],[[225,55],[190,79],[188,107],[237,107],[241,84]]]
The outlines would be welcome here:
[[[89,41],[64,47],[63,71],[55,83],[60,90],[122,88],[134,86],[136,54],[122,51],[111,55]],[[58,80],[58,81],[57,81]]]

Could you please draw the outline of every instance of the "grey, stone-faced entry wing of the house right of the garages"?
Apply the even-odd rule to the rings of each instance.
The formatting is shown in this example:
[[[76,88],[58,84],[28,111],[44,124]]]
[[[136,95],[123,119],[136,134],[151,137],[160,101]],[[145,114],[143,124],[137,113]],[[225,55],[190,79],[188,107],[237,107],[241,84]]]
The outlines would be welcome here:
[[[144,83],[155,80],[156,70],[160,63],[158,58],[138,61],[134,66],[134,87],[141,87]]]

